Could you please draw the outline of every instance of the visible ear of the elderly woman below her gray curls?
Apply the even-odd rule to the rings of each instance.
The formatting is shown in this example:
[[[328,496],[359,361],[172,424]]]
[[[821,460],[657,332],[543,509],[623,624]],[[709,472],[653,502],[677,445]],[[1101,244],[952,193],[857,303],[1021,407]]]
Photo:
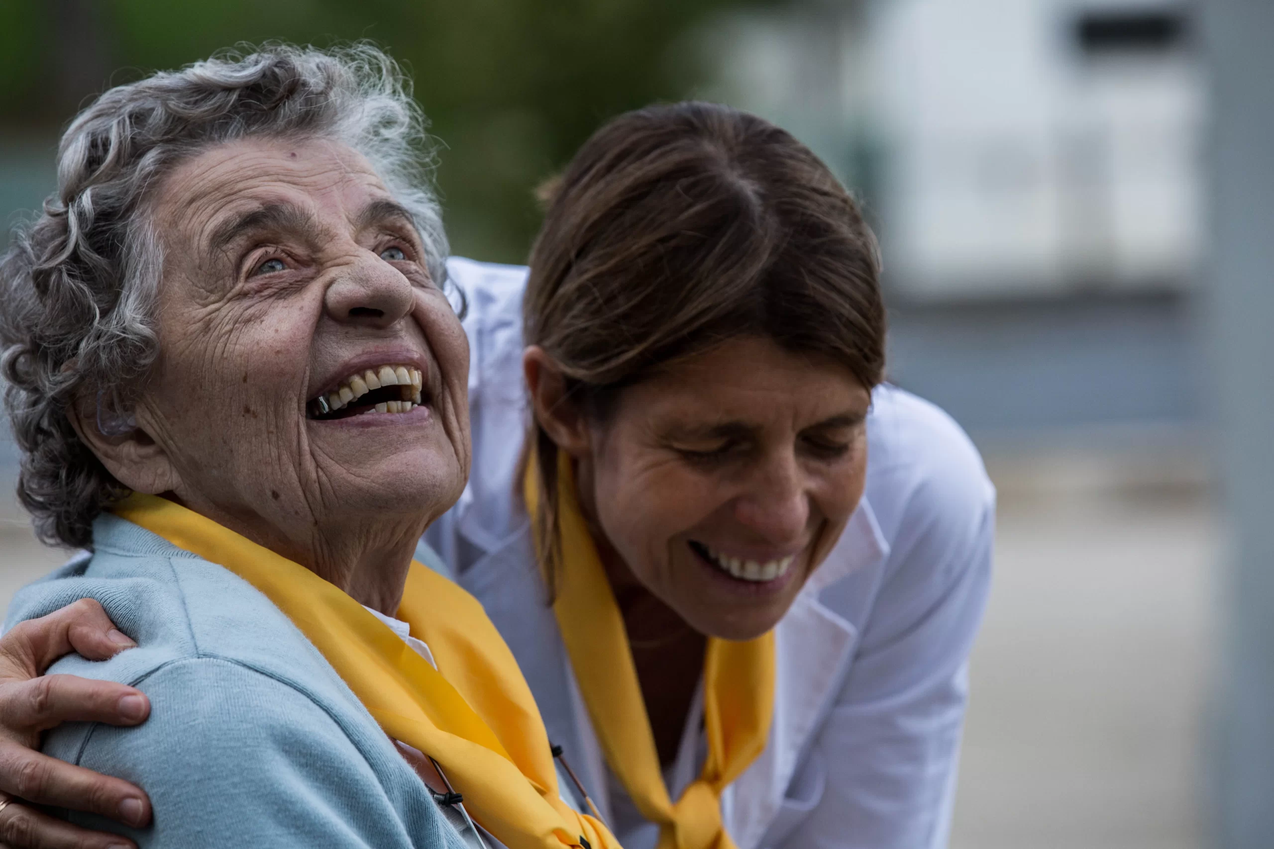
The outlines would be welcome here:
[[[163,447],[131,414],[103,409],[103,400],[84,393],[66,409],[66,417],[106,470],[138,493],[177,490],[181,477]]]

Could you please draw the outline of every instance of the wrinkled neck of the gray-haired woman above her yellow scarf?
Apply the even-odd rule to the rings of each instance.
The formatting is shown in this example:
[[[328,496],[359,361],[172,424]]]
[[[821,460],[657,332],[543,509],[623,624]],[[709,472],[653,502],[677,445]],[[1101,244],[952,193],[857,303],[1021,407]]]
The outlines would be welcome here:
[[[428,522],[419,516],[293,522],[304,532],[289,533],[283,522],[251,509],[227,510],[199,499],[164,498],[200,513],[335,584],[354,601],[394,616],[403,601],[406,573]]]

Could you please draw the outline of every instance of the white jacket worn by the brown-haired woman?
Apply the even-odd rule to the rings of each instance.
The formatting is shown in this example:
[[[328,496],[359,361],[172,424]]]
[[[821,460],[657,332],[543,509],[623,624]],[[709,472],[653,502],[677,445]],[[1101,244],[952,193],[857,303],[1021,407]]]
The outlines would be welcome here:
[[[426,540],[503,635],[549,740],[599,807],[613,797],[619,807],[515,494],[527,423],[526,269],[452,258],[448,271],[469,300],[473,465]],[[768,743],[721,796],[740,849],[947,845],[967,658],[990,591],[995,490],[959,426],[897,387],[874,389],[866,430],[862,500],[775,629]],[[693,761],[678,757],[670,789],[683,764],[694,774]]]

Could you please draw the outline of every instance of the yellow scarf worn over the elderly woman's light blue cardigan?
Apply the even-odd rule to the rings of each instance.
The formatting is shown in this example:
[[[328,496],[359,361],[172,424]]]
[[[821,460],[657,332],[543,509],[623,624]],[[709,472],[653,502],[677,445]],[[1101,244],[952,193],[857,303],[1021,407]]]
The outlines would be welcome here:
[[[510,849],[585,840],[592,849],[619,849],[605,826],[558,797],[530,687],[482,605],[464,589],[419,563],[408,573],[397,617],[429,645],[434,670],[335,584],[199,513],[140,494],[115,513],[261,591],[390,737],[442,765],[473,817]]]

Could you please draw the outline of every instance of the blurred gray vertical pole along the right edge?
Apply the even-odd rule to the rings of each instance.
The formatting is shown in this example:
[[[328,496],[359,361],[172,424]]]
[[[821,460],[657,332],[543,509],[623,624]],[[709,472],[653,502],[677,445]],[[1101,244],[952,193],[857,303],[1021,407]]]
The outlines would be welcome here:
[[[1229,572],[1218,843],[1274,846],[1274,3],[1205,0],[1213,78],[1209,290]]]

